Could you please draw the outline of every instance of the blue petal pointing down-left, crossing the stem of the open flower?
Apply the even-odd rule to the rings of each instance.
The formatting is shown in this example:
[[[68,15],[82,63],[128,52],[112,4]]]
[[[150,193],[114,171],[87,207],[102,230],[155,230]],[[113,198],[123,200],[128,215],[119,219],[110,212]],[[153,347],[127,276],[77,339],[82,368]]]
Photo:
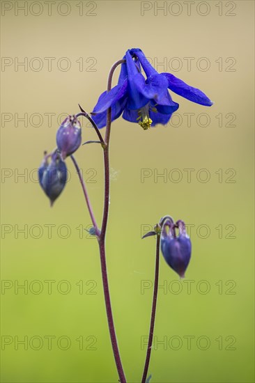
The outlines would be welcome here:
[[[109,107],[112,107],[113,104],[118,102],[122,97],[125,97],[127,91],[127,78],[123,81],[122,84],[118,84],[111,89],[111,91],[104,92],[100,95],[98,103],[93,109],[93,113],[102,113],[106,111]]]

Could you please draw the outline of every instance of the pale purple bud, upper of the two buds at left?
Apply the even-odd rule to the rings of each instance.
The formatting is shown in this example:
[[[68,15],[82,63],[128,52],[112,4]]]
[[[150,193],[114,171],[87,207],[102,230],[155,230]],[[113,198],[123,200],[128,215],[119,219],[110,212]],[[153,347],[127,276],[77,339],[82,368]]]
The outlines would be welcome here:
[[[82,128],[75,116],[68,116],[56,132],[56,145],[63,159],[75,153],[82,143]]]

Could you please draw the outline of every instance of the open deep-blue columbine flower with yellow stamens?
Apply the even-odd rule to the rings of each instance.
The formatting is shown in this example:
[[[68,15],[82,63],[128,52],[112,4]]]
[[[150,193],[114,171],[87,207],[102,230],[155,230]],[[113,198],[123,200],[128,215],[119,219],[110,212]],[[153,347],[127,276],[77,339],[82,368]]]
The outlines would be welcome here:
[[[100,95],[93,109],[93,120],[98,127],[104,127],[107,109],[111,107],[111,120],[123,113],[123,118],[139,123],[144,130],[157,124],[167,124],[179,104],[171,99],[168,89],[187,100],[210,107],[212,101],[199,89],[185,84],[170,73],[159,74],[148,62],[141,49],[129,49],[121,65],[118,84]],[[141,74],[141,67],[146,79]]]

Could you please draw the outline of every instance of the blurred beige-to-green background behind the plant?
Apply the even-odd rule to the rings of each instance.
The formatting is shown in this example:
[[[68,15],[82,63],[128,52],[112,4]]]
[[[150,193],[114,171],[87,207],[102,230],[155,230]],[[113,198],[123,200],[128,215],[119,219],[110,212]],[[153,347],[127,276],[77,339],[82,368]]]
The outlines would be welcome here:
[[[173,95],[166,127],[112,125],[107,265],[127,381],[141,379],[153,294],[155,239],[141,235],[171,214],[190,225],[192,260],[180,281],[160,258],[152,382],[254,382],[254,2],[25,3],[1,1],[1,381],[118,381],[77,175],[68,159],[51,209],[36,169],[60,115],[91,111],[111,65],[140,47],[215,104]],[[99,222],[101,152],[76,155]]]

